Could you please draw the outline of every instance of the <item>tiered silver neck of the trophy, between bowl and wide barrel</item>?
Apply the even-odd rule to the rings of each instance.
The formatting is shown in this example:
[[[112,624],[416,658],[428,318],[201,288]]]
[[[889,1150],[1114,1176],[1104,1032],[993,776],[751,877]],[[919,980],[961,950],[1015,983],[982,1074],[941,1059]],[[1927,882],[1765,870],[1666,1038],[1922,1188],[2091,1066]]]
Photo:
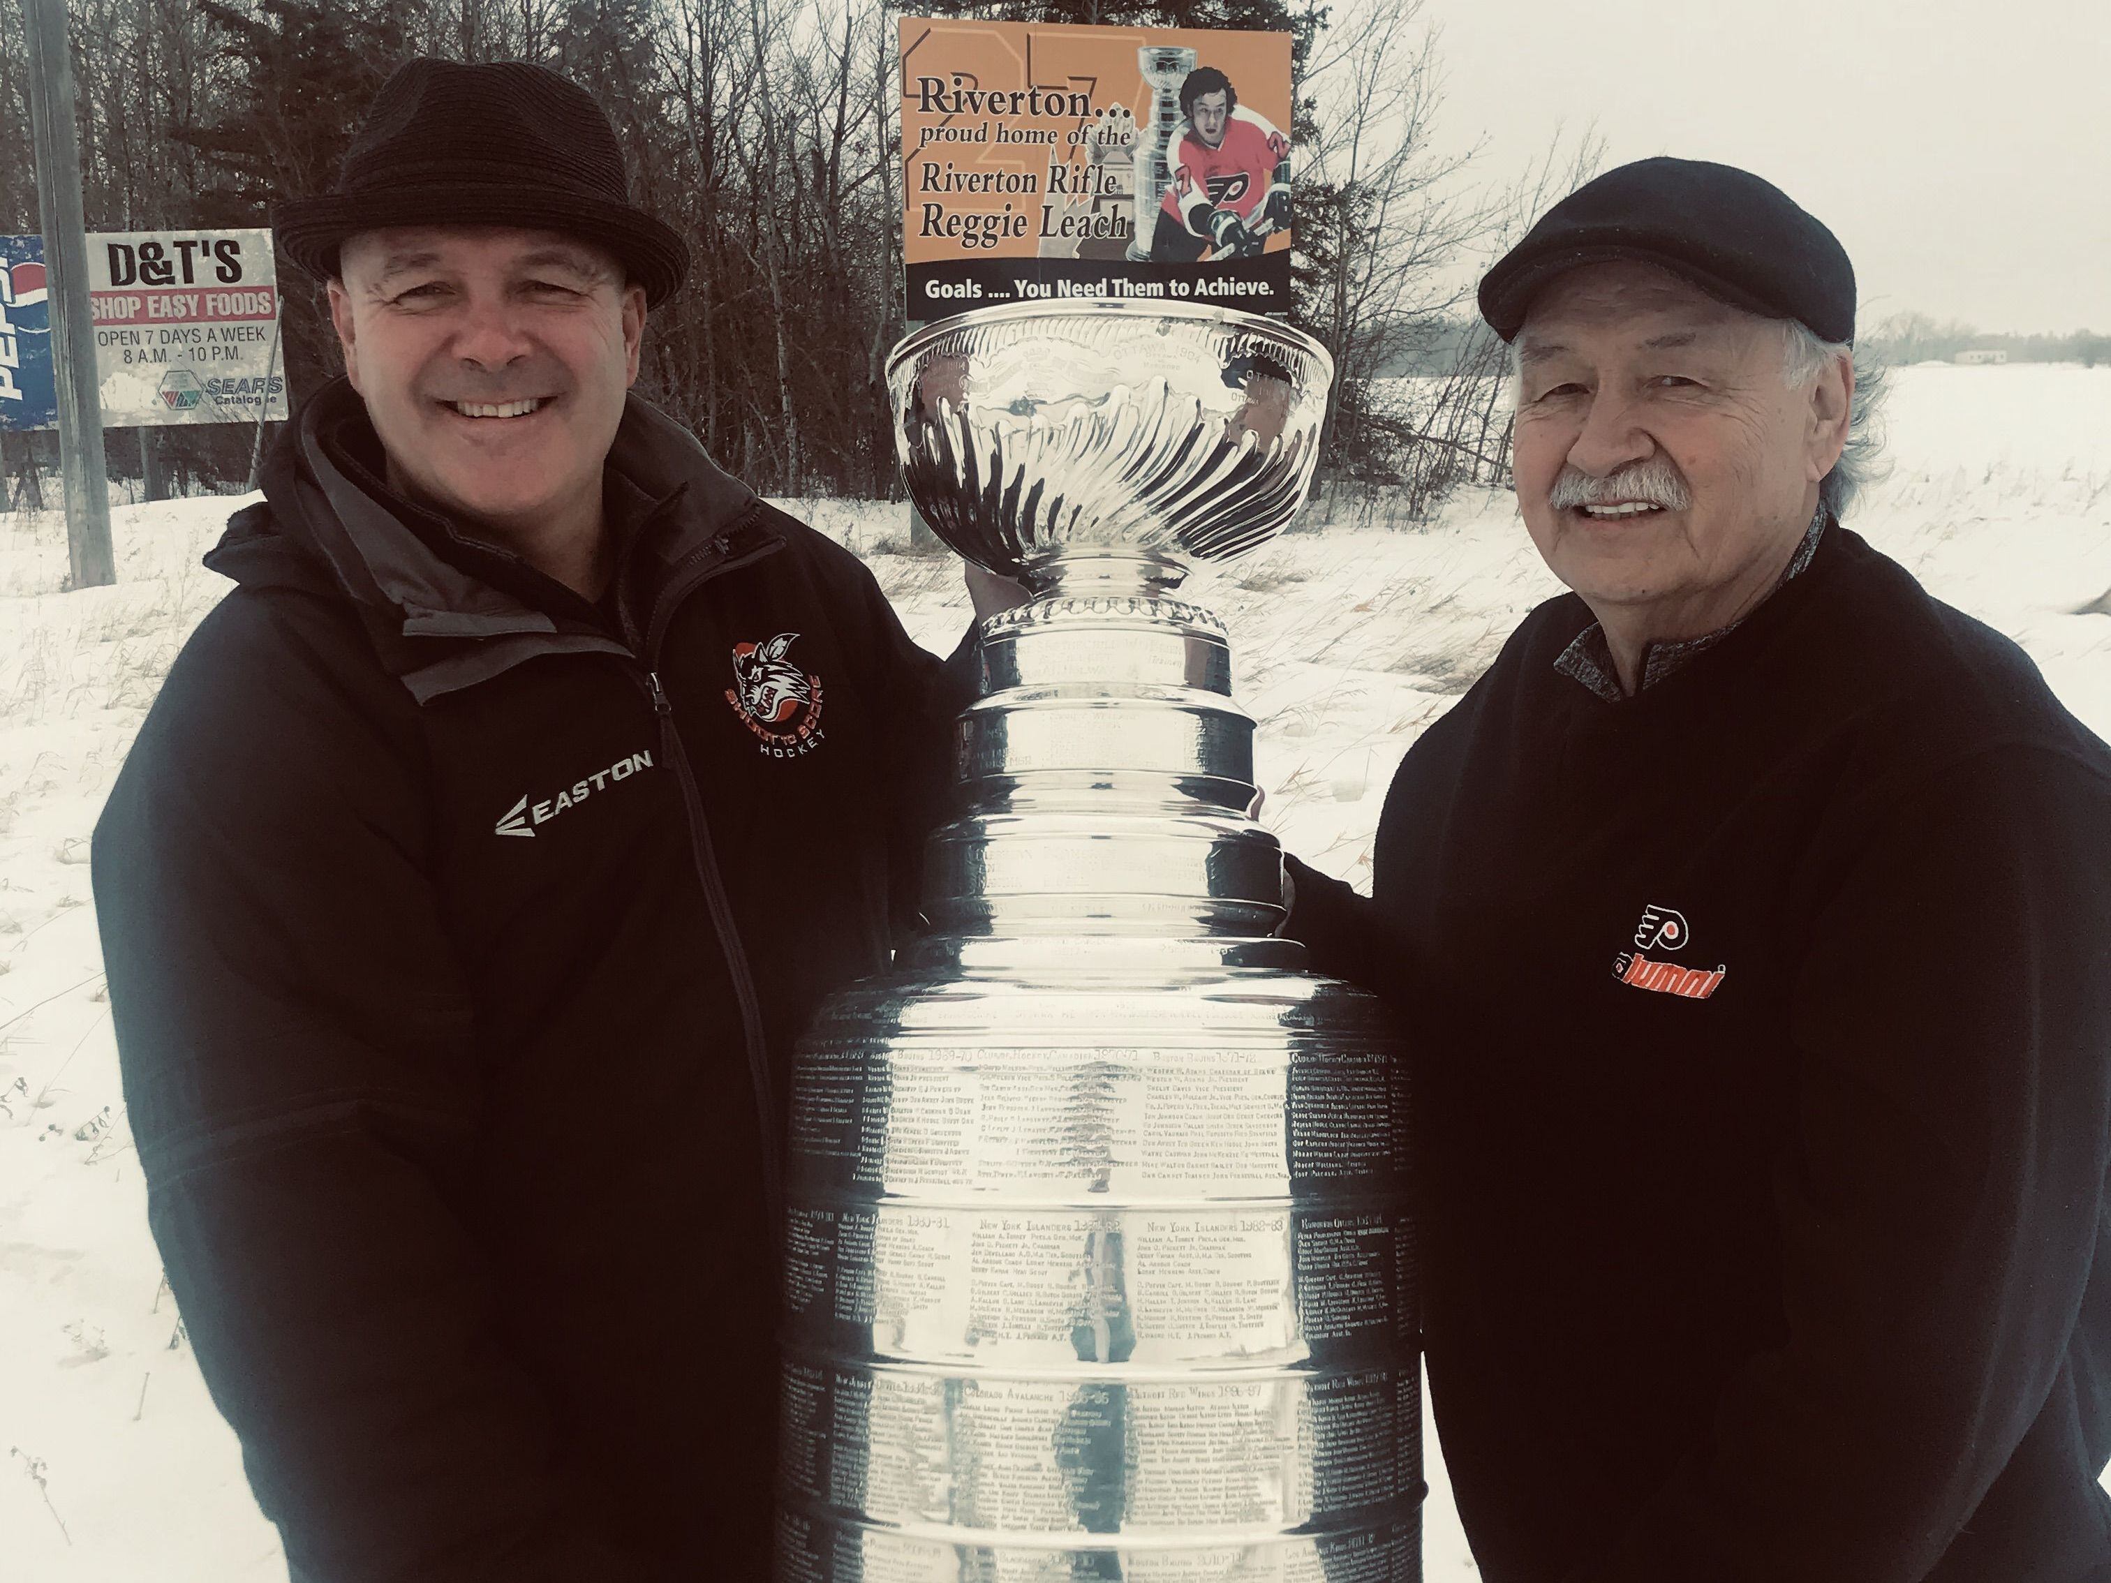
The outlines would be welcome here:
[[[1222,623],[1165,593],[1182,570],[1056,555],[1045,597],[984,623],[982,697],[954,737],[963,813],[927,848],[937,933],[1275,933],[1254,720]]]

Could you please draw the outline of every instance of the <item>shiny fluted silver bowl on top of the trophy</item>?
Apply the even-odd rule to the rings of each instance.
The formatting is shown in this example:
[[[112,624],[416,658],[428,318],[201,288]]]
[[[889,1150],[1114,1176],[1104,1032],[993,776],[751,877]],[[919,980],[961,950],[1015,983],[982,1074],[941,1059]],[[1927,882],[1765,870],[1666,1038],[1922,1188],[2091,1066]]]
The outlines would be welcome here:
[[[910,498],[1026,580],[1085,551],[1226,559],[1296,515],[1334,359],[1199,304],[1022,302],[942,319],[887,365]]]

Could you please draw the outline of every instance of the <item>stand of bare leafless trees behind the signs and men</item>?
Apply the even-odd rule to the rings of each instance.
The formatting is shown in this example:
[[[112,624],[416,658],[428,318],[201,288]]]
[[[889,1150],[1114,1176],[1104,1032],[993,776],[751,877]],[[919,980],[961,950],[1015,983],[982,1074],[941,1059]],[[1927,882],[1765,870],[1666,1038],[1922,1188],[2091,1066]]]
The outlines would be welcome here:
[[[321,192],[359,112],[410,55],[547,63],[610,112],[638,198],[690,243],[688,287],[648,327],[642,388],[768,492],[897,488],[887,348],[904,325],[899,61],[882,0],[70,0],[89,224],[262,226]],[[1009,19],[1288,27],[1296,59],[1298,319],[1343,371],[1330,477],[1421,500],[1463,458],[1499,466],[1478,365],[1408,422],[1378,399],[1404,357],[1450,346],[1459,260],[1488,224],[1438,133],[1423,0],[933,0]],[[27,139],[19,15],[0,4],[0,139]],[[0,163],[0,228],[34,230],[25,160]],[[296,401],[336,371],[315,283],[287,266]],[[1427,418],[1427,420],[1425,420]],[[249,435],[165,431],[179,488],[239,483]],[[11,445],[34,473],[42,437]],[[1490,460],[1492,458],[1492,460]],[[112,447],[127,477],[135,447]],[[23,473],[27,479],[27,473]]]

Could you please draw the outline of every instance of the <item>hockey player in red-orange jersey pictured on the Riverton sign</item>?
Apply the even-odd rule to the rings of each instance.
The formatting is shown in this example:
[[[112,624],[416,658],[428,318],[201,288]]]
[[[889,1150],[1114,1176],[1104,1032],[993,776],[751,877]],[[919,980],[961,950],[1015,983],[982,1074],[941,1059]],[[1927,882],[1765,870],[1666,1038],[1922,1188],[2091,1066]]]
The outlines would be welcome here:
[[[1231,78],[1214,65],[1188,72],[1180,116],[1150,258],[1195,264],[1258,255],[1271,232],[1290,228],[1290,139],[1241,106]]]

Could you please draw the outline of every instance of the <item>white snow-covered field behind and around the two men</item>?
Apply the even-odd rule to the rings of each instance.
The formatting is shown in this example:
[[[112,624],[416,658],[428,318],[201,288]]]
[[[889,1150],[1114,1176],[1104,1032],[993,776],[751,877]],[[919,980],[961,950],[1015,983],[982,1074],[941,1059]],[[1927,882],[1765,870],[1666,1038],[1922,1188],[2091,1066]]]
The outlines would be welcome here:
[[[1902,369],[1889,437],[1851,526],[2111,737],[2111,616],[2075,614],[2111,589],[2111,369]],[[131,737],[226,589],[198,555],[236,504],[116,511],[122,580],[63,595],[63,521],[0,515],[0,1570],[23,1583],[285,1577],[160,1290],[87,870]],[[958,570],[899,553],[899,507],[792,504],[872,561],[918,640],[952,644]],[[1402,754],[1556,585],[1507,496],[1471,494],[1423,532],[1311,526],[1191,591],[1231,625],[1267,821],[1368,884]],[[1427,1575],[1450,1581],[1473,1564],[1429,1448]]]

